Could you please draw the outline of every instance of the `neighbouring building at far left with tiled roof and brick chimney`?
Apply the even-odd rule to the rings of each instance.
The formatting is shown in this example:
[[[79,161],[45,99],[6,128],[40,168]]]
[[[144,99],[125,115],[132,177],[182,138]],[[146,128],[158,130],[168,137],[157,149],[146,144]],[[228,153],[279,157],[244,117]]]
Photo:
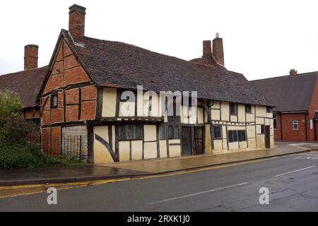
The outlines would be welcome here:
[[[18,93],[23,103],[24,118],[40,124],[40,107],[36,100],[47,66],[37,68],[38,49],[35,44],[25,46],[24,71],[0,76],[0,90]]]

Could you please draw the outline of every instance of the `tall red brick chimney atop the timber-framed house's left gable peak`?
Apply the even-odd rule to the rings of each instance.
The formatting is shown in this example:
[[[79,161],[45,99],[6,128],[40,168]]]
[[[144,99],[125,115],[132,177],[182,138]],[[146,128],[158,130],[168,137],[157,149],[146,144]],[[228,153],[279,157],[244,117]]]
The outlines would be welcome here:
[[[84,44],[86,8],[73,4],[69,7],[69,32],[74,42]]]

